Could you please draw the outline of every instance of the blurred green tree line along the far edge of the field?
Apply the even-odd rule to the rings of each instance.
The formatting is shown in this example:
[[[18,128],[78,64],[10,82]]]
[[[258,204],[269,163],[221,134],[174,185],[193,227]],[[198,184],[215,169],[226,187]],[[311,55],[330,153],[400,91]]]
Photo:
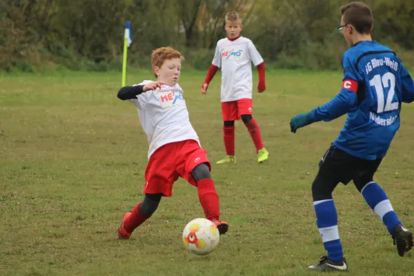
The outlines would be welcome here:
[[[224,16],[237,10],[242,35],[276,68],[334,70],[346,50],[337,32],[339,0],[1,0],[0,69],[121,68],[126,20],[131,23],[130,66],[148,66],[150,52],[174,46],[205,70]],[[414,0],[367,0],[373,38],[414,66]]]

